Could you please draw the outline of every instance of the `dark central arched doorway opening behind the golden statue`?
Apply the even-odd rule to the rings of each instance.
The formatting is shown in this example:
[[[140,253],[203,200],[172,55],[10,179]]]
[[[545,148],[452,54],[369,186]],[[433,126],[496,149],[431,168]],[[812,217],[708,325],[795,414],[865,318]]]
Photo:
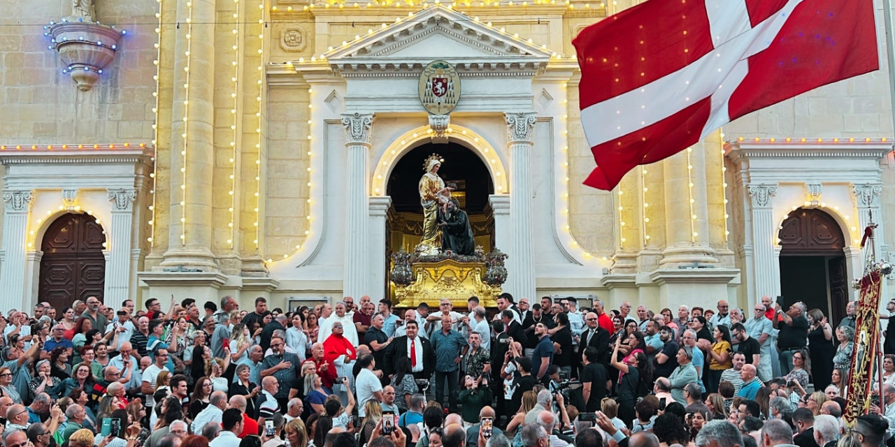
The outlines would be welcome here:
[[[392,199],[386,232],[386,264],[389,269],[393,252],[402,248],[413,251],[413,247],[422,239],[422,207],[418,184],[424,173],[422,164],[433,153],[445,160],[439,169],[439,176],[446,183],[454,181],[457,184],[453,196],[469,215],[475,244],[481,245],[486,252],[493,246],[494,217],[489,205],[489,195],[494,194],[494,182],[488,166],[471,149],[461,144],[427,143],[402,156],[388,177],[386,193]]]

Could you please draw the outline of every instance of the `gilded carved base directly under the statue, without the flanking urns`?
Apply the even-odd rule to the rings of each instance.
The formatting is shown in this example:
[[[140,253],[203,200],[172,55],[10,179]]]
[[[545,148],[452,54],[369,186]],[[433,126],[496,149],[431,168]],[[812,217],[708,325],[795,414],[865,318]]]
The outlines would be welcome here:
[[[391,283],[397,308],[416,308],[420,303],[438,308],[441,299],[450,299],[455,307],[465,308],[466,300],[478,297],[486,308],[497,307],[500,286],[482,282],[485,264],[457,262],[444,259],[439,262],[416,262],[412,266],[413,282],[409,285]]]

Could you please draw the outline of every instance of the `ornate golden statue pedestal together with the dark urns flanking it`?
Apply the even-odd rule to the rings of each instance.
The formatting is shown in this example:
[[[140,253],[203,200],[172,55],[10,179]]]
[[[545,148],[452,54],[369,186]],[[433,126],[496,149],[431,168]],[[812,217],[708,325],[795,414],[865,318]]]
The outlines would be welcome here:
[[[457,257],[394,255],[392,268],[392,302],[397,308],[416,308],[421,303],[438,308],[441,299],[450,299],[456,308],[465,308],[467,299],[478,297],[486,308],[497,307],[500,285],[506,280],[503,260],[507,257],[494,250],[484,254]]]

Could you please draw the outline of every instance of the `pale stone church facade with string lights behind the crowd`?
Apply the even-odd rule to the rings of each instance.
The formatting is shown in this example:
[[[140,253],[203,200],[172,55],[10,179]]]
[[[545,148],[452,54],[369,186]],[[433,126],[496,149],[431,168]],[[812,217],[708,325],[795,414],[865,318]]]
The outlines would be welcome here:
[[[841,315],[871,221],[890,258],[884,58],[600,191],[571,41],[627,0],[41,4],[0,30],[0,308],[386,298],[433,153],[517,299]],[[447,114],[421,102],[434,61],[459,78]]]

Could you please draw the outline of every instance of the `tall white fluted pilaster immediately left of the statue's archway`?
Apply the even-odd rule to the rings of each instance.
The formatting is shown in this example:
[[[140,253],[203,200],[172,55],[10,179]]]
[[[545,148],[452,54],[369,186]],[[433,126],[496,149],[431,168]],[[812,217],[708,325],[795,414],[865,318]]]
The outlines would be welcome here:
[[[366,245],[370,220],[367,163],[370,160],[372,114],[342,114],[345,126],[345,296],[369,295]]]

